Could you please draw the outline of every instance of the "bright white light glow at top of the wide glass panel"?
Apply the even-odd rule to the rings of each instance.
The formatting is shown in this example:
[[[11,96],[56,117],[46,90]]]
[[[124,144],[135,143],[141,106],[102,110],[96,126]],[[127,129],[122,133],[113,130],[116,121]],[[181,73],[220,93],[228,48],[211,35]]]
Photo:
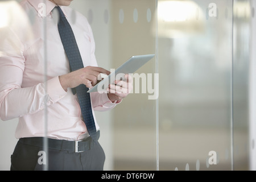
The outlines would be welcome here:
[[[205,22],[199,19],[202,14],[201,7],[193,1],[159,1],[159,38],[178,38],[203,32]]]

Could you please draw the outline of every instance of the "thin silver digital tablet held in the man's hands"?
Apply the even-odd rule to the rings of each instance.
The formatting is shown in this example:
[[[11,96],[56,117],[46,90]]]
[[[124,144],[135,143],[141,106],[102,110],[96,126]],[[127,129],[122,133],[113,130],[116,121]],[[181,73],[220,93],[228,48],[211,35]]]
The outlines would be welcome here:
[[[88,90],[88,93],[106,92],[106,89],[109,87],[109,84],[114,84],[115,80],[119,80],[120,78],[123,78],[126,74],[134,73],[135,71],[137,71],[137,69],[141,68],[154,56],[155,56],[154,54],[131,56],[130,59],[128,59],[120,67],[115,69],[114,72],[110,73],[103,80],[101,80],[92,88],[90,88]]]

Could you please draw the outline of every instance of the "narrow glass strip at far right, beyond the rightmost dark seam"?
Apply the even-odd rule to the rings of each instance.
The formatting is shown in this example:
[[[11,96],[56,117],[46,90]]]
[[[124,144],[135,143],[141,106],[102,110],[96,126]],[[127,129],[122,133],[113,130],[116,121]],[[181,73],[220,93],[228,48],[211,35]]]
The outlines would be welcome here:
[[[249,63],[253,32],[250,1],[234,1],[233,26],[233,151],[234,170],[249,168]]]

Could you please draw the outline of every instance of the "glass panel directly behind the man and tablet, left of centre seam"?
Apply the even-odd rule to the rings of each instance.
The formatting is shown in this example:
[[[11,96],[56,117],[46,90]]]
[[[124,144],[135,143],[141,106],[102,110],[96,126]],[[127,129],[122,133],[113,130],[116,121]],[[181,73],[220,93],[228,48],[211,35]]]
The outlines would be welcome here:
[[[114,70],[134,55],[156,54],[156,1],[73,1],[92,26],[98,64]],[[97,112],[105,169],[156,169],[156,56],[133,75],[132,93]]]

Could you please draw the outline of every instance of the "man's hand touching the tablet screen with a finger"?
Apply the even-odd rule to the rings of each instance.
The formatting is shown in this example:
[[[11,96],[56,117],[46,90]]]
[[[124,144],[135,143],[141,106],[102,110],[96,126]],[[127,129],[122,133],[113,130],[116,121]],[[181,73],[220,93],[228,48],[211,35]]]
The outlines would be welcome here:
[[[84,84],[87,88],[96,85],[100,73],[104,73],[106,75],[110,74],[110,72],[104,68],[88,66],[66,75],[61,75],[59,76],[59,80],[61,86],[67,92],[68,88],[75,88],[81,84]]]

